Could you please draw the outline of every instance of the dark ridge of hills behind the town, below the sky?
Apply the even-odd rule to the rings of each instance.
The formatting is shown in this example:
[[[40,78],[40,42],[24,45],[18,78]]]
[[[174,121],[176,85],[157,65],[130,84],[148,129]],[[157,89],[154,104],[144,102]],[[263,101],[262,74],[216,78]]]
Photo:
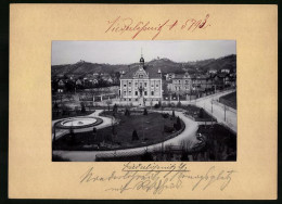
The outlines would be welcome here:
[[[219,59],[208,59],[194,62],[174,62],[169,59],[156,59],[145,63],[146,66],[153,68],[161,68],[163,74],[167,73],[205,73],[209,69],[236,69],[236,55],[227,55]],[[52,77],[62,77],[64,75],[73,75],[75,77],[84,77],[86,75],[92,75],[94,73],[107,73],[110,75],[125,71],[130,67],[138,66],[138,63],[133,64],[98,64],[85,61],[79,61],[75,64],[53,65],[51,67]]]

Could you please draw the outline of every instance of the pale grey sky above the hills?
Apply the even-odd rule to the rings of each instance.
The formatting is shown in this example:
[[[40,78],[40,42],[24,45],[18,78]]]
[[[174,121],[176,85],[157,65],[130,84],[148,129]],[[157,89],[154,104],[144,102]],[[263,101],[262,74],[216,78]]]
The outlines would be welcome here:
[[[52,65],[92,63],[131,64],[167,58],[175,62],[218,59],[236,54],[235,40],[150,40],[150,41],[52,41]]]

